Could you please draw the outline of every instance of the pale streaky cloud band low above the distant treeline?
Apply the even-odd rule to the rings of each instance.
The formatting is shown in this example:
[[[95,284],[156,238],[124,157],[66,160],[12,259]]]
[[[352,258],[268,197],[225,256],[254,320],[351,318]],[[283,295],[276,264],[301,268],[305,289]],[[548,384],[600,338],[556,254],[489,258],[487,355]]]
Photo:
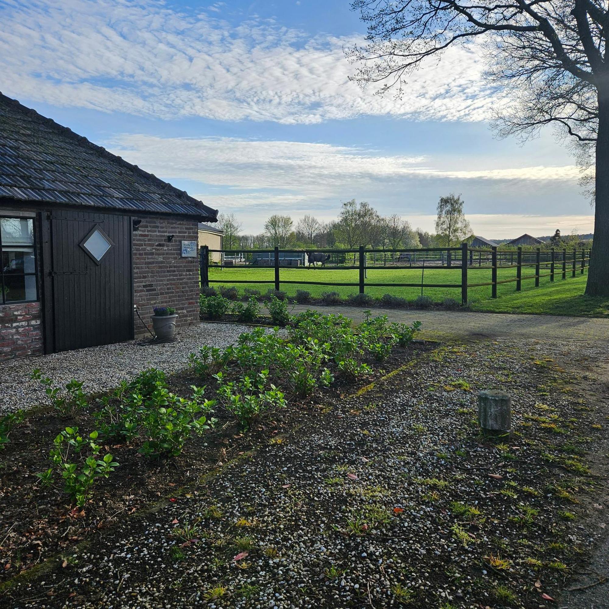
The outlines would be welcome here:
[[[573,203],[580,174],[572,165],[463,170],[459,158],[440,163],[435,158],[326,143],[218,137],[124,134],[106,145],[131,163],[180,182],[180,188],[213,208],[234,211],[248,232],[261,230],[273,213],[294,219],[312,213],[327,221],[336,217],[341,201],[353,197],[430,230],[432,216],[426,210],[435,208],[438,193],[451,191],[463,192],[466,213],[475,218],[474,230],[489,238],[518,231],[544,234],[546,228],[542,230],[538,220],[529,222],[532,218],[543,217],[544,227],[558,226],[550,220],[562,215],[573,219],[580,213],[577,217],[590,220],[586,204]],[[565,230],[573,225],[588,230],[588,220],[574,220]]]

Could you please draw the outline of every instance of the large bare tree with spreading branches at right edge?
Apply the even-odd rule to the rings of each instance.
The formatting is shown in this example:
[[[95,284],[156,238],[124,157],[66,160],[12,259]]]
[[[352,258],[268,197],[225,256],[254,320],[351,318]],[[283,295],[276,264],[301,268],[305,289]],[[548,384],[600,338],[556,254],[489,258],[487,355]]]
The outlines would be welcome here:
[[[397,86],[452,44],[486,40],[488,76],[509,97],[496,126],[542,125],[596,149],[594,256],[586,294],[609,296],[609,58],[605,0],[354,0],[368,44],[348,56],[362,85]]]

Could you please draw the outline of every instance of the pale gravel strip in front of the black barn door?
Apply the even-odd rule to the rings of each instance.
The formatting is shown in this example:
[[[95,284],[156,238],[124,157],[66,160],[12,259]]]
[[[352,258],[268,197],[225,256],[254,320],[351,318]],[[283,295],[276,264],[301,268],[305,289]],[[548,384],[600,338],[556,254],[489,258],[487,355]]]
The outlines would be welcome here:
[[[83,390],[96,393],[113,389],[120,381],[132,379],[142,370],[155,367],[171,373],[188,365],[188,354],[202,347],[226,347],[247,326],[232,323],[199,323],[178,331],[178,340],[165,345],[141,345],[141,339],[102,345],[51,355],[14,359],[0,364],[0,414],[48,404],[44,388],[30,380],[40,368],[56,384],[72,378],[85,381]]]

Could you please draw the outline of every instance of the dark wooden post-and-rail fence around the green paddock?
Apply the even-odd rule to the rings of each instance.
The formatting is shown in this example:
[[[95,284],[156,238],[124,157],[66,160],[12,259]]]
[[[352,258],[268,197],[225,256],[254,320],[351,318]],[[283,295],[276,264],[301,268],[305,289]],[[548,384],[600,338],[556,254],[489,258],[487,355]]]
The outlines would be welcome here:
[[[583,274],[590,265],[591,250],[525,250],[519,247],[517,250],[500,250],[497,247],[489,249],[469,247],[463,243],[461,247],[445,248],[421,248],[421,249],[396,249],[379,250],[358,247],[357,249],[320,249],[316,253],[329,255],[322,267],[315,266],[317,270],[359,270],[359,281],[336,282],[336,281],[308,281],[282,280],[281,269],[306,270],[307,253],[305,250],[283,249],[275,247],[264,250],[211,250],[206,245],[200,248],[200,273],[201,285],[208,287],[210,283],[233,283],[233,284],[272,284],[276,291],[281,285],[309,285],[328,287],[358,287],[359,293],[364,294],[366,287],[426,287],[432,288],[454,288],[461,290],[461,301],[463,305],[468,302],[468,288],[491,287],[491,297],[497,298],[497,286],[507,283],[516,283],[516,291],[522,289],[522,282],[534,279],[535,287],[540,284],[540,279],[549,277],[550,281],[560,275],[563,280],[567,275],[575,277],[579,272]],[[220,254],[219,262],[209,259],[210,253]],[[353,262],[351,262],[351,258]],[[323,266],[327,263],[328,266]],[[231,278],[230,281],[210,280],[209,268],[231,268],[231,269],[274,269],[272,280],[238,280]],[[534,267],[534,274],[523,275],[523,268]],[[373,269],[421,269],[421,281],[419,283],[375,283],[366,280],[367,270]],[[461,270],[460,283],[424,283],[425,270],[451,269]],[[478,270],[491,269],[491,281],[470,283],[470,273]],[[516,269],[515,275],[507,279],[498,279],[499,269]],[[558,269],[558,270],[557,270]],[[547,271],[547,272],[543,272]],[[328,277],[328,279],[331,275]]]

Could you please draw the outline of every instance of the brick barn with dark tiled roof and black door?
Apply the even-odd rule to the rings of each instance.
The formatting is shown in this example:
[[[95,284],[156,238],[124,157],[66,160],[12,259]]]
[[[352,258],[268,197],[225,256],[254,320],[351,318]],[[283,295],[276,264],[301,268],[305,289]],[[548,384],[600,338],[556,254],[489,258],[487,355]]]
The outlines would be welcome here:
[[[0,359],[199,320],[199,222],[217,210],[0,93]],[[149,324],[150,325],[150,324]]]

